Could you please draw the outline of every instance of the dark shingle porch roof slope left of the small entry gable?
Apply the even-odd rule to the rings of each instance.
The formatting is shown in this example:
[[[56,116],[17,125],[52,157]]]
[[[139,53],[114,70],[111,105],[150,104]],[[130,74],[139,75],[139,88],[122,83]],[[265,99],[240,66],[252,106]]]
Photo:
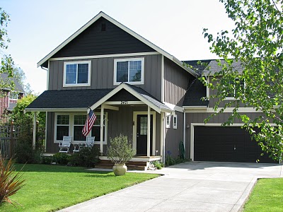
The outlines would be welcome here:
[[[26,108],[87,108],[107,95],[111,90],[45,90]]]

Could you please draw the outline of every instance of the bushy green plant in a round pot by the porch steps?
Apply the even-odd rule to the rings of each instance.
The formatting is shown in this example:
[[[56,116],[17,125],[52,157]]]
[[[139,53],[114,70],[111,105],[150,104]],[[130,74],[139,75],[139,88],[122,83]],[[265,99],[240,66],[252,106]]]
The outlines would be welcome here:
[[[135,154],[136,151],[132,149],[132,143],[128,142],[127,136],[120,134],[120,136],[110,139],[110,146],[106,155],[114,163],[113,172],[115,176],[125,175],[127,172],[125,163],[131,160]]]

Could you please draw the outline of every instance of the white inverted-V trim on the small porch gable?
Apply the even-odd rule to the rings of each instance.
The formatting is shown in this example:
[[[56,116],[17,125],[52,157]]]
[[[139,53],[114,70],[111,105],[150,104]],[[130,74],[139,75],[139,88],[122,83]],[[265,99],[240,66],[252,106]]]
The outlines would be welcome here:
[[[127,92],[131,93],[132,95],[134,95],[136,98],[138,98],[139,100],[141,100],[141,102],[144,102],[146,105],[148,105],[149,107],[151,107],[152,109],[154,109],[156,112],[160,113],[161,109],[159,107],[156,107],[156,105],[152,104],[151,102],[149,102],[149,100],[146,100],[146,98],[144,98],[143,96],[141,96],[139,93],[137,93],[137,91],[133,90],[132,88],[130,88],[129,86],[127,86],[126,83],[121,83],[119,86],[117,86],[116,88],[114,88],[112,91],[110,91],[110,93],[108,93],[107,95],[105,95],[103,98],[101,98],[98,102],[96,102],[94,105],[91,106],[91,110],[95,110],[99,105],[102,105],[106,100],[108,100],[110,97],[112,97],[113,95],[115,95],[117,92],[119,92],[122,89],[127,90]]]

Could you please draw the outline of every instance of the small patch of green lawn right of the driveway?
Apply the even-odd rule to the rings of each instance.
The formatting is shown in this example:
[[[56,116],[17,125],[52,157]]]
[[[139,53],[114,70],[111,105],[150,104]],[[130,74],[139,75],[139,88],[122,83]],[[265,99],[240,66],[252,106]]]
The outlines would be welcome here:
[[[283,178],[259,179],[243,211],[283,211]]]

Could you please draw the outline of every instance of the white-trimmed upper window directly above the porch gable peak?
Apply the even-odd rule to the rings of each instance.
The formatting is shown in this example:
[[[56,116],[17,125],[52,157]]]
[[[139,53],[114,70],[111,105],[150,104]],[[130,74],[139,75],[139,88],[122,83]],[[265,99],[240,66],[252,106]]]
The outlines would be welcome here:
[[[115,59],[114,85],[144,83],[144,58]]]

